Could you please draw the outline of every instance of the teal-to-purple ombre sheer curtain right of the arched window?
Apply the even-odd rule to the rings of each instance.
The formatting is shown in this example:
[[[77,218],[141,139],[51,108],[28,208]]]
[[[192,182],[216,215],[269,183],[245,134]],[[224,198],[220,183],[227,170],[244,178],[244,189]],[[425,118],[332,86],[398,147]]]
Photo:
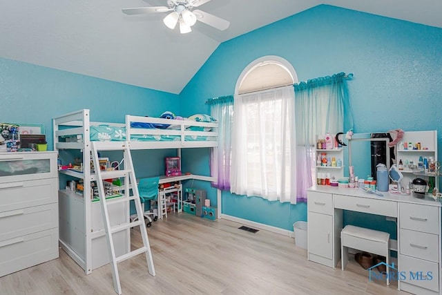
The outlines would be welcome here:
[[[307,189],[314,184],[316,135],[343,132],[344,122],[349,128],[353,126],[346,81],[352,77],[338,73],[294,85],[297,202],[307,202]]]

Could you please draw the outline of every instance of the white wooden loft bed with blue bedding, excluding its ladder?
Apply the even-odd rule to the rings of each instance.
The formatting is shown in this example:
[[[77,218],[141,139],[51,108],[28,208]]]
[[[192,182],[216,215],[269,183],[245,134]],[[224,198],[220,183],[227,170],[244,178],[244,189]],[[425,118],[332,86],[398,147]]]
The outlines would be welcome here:
[[[52,120],[54,150],[80,150],[84,167],[90,163],[90,151],[95,140],[108,141],[109,144],[128,144],[130,149],[181,149],[218,146],[218,124],[215,122],[195,122],[193,120],[171,120],[157,117],[126,115],[124,123],[92,122],[90,111],[81,109]],[[158,126],[167,129],[140,128],[140,126]],[[59,243],[62,249],[80,265],[86,274],[109,262],[102,211],[99,202],[93,202],[91,182],[95,174],[90,169],[84,171],[61,170],[61,174],[84,180],[84,193],[59,190]],[[204,175],[180,175],[161,177],[160,183],[178,180],[214,181]],[[91,200],[85,202],[85,200]],[[129,218],[126,204],[113,205],[109,216],[111,225],[124,223]],[[120,256],[131,249],[130,231],[114,234],[115,254]]]

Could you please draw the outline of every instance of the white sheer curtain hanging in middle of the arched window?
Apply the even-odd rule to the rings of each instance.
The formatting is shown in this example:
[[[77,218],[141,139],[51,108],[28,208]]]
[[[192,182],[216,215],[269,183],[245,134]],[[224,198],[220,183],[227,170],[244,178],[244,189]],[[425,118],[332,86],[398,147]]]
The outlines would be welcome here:
[[[234,99],[231,193],[296,204],[293,86]]]

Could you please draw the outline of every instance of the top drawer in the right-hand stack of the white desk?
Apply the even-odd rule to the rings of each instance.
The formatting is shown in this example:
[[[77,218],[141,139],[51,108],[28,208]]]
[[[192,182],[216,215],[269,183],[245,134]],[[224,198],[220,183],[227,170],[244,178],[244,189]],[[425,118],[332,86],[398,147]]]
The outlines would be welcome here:
[[[421,204],[399,204],[401,229],[412,229],[430,234],[439,233],[440,207]]]

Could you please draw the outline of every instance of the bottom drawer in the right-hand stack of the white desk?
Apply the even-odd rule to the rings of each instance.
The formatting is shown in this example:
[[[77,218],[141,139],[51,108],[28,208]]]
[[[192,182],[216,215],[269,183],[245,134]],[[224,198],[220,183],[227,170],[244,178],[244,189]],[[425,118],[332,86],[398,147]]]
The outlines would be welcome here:
[[[405,255],[399,255],[401,281],[439,292],[439,264]]]

